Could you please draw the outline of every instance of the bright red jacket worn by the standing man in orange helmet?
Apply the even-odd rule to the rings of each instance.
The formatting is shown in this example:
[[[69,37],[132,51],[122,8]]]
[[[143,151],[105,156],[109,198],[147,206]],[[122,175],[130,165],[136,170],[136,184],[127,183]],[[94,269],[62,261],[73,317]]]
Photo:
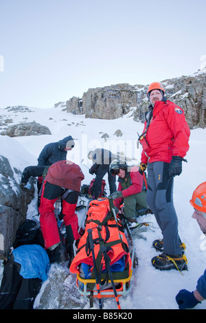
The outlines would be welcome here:
[[[144,131],[146,131],[146,122]],[[173,156],[185,157],[189,149],[190,128],[183,109],[169,100],[155,102],[152,120],[140,138],[141,162],[165,161]]]

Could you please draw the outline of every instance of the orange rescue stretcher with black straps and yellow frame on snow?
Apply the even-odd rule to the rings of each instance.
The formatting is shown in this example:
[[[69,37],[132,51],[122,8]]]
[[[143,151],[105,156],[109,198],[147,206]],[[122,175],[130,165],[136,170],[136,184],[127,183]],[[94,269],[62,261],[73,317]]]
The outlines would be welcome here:
[[[84,226],[84,234],[69,270],[77,274],[82,296],[98,297],[99,303],[101,298],[115,297],[118,305],[117,297],[130,290],[135,250],[128,245],[120,214],[115,214],[113,200],[91,201]]]

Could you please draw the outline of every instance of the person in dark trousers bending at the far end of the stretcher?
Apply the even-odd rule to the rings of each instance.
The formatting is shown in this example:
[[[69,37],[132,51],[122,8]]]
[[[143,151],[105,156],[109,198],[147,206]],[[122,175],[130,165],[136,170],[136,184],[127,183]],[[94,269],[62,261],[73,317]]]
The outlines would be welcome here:
[[[96,175],[91,194],[95,197],[95,199],[98,199],[101,190],[102,179],[104,175],[106,175],[106,173],[108,173],[108,185],[110,194],[115,192],[116,177],[110,174],[109,165],[111,164],[111,161],[113,161],[117,157],[107,149],[96,148],[94,151],[89,152],[88,158],[92,159],[93,161],[93,166],[91,166],[89,173],[91,175]]]

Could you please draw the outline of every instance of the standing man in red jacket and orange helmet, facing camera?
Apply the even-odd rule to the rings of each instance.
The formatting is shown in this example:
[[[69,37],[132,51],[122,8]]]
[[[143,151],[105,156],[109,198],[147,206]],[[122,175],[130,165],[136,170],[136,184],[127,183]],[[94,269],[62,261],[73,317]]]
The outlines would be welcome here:
[[[143,151],[139,172],[148,170],[147,203],[154,212],[162,240],[153,242],[162,254],[152,258],[158,269],[186,269],[187,260],[179,238],[178,219],[173,204],[174,176],[182,172],[182,161],[189,149],[190,128],[183,109],[166,100],[161,83],[148,87],[149,111],[144,132],[139,136]]]

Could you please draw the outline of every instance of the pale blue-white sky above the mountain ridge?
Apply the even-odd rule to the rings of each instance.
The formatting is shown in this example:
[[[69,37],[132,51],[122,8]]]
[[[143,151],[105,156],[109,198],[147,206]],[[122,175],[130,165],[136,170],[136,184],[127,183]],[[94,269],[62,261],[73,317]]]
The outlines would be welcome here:
[[[0,0],[0,108],[193,74],[205,12],[205,0]]]

